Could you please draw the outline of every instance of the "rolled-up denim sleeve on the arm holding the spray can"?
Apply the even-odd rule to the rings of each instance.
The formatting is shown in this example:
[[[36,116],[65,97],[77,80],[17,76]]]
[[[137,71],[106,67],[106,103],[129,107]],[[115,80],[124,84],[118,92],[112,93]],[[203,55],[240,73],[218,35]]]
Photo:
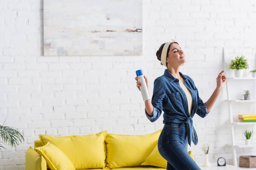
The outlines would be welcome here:
[[[152,95],[152,99],[151,99],[151,103],[153,105],[152,116],[149,116],[145,109],[145,114],[151,122],[155,122],[162,114],[163,99],[164,99],[165,95],[166,95],[166,93],[163,88],[163,83],[161,82],[161,80],[159,78],[155,79],[153,95]]]

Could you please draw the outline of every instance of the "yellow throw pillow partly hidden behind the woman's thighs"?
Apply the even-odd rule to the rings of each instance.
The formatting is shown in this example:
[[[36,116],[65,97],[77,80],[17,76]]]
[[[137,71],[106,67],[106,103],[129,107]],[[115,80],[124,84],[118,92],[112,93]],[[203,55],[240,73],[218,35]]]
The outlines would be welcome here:
[[[191,151],[188,151],[189,155],[194,159],[194,155],[191,153]],[[160,155],[157,145],[155,146],[154,150],[151,152],[151,154],[147,157],[147,159],[141,164],[141,165],[151,165],[156,167],[167,167],[167,161],[163,158],[163,156]]]

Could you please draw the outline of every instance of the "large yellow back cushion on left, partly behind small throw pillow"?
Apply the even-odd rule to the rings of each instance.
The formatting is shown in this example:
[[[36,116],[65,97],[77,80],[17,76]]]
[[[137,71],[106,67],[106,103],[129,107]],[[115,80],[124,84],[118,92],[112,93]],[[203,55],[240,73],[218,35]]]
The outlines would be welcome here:
[[[96,169],[105,167],[105,138],[107,131],[84,136],[39,135],[43,144],[47,142],[58,147],[76,169]]]

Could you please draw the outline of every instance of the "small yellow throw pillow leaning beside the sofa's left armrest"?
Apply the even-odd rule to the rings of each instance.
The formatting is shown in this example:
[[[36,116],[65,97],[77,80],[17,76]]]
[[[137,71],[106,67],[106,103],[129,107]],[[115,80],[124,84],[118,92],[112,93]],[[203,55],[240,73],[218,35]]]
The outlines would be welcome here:
[[[49,142],[44,146],[35,147],[35,151],[44,157],[51,170],[76,170],[67,156]]]

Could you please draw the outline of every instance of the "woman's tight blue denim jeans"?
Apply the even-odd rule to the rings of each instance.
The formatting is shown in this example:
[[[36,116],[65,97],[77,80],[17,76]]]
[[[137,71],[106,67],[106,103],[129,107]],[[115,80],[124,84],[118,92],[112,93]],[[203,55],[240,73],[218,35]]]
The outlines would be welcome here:
[[[165,122],[157,147],[167,161],[166,170],[201,170],[187,151],[186,123]]]

